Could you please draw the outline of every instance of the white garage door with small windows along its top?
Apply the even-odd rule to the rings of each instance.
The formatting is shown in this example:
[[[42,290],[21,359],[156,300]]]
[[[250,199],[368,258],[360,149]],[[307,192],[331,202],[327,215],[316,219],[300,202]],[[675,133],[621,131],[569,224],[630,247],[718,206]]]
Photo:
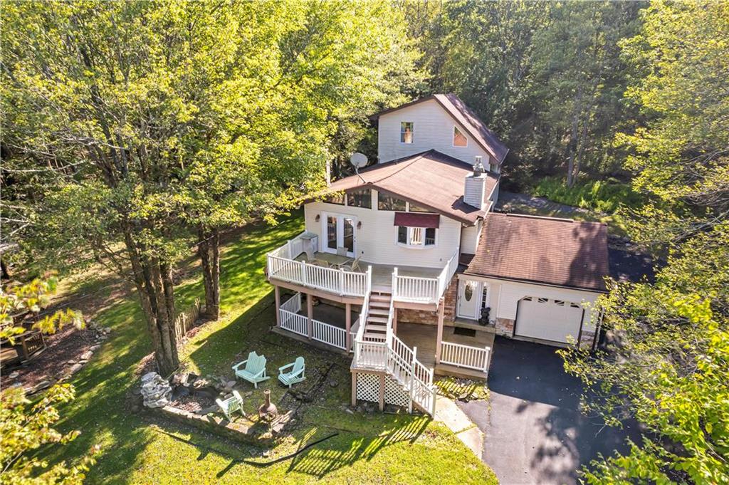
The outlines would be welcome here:
[[[567,335],[580,336],[582,307],[551,298],[526,297],[519,302],[515,334],[566,344]]]

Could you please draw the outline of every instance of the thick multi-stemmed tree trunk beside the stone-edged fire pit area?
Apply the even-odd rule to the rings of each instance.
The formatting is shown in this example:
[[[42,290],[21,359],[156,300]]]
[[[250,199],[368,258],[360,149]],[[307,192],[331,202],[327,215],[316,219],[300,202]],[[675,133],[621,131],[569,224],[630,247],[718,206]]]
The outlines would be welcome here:
[[[157,372],[167,377],[179,367],[170,266],[160,263],[157,258],[144,256],[130,228],[125,230],[125,245],[141,308],[147,320],[147,330],[152,338]]]

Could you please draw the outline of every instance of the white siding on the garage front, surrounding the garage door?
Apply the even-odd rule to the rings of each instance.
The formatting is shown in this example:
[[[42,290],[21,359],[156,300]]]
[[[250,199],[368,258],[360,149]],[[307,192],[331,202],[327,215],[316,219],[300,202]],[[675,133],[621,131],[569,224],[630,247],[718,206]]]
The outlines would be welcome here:
[[[589,305],[585,307],[585,317],[582,321],[582,325],[584,330],[595,330],[595,325],[591,322],[590,310],[592,308],[592,303],[595,303],[599,293],[569,290],[567,288],[559,287],[547,287],[540,284],[478,278],[466,275],[461,275],[460,278],[477,279],[483,282],[488,282],[488,306],[491,306],[491,318],[498,317],[515,320],[516,308],[519,300],[525,296],[553,298],[555,300],[565,300],[578,304],[589,303]]]

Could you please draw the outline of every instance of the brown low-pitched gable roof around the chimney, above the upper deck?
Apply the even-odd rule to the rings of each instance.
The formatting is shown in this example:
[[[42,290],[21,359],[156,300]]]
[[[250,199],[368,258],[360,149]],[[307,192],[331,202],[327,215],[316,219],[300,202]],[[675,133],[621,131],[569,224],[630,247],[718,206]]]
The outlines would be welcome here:
[[[486,210],[463,201],[464,179],[471,173],[472,167],[468,163],[437,150],[429,150],[364,168],[359,175],[332,182],[324,194],[373,188],[473,225],[479,217],[486,215]],[[484,202],[488,203],[498,181],[498,174],[486,172]]]

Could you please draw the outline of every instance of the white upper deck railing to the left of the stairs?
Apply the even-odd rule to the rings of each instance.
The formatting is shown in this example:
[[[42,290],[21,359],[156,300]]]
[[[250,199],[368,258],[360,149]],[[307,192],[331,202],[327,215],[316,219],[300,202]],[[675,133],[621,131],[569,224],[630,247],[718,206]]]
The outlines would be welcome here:
[[[336,295],[362,296],[367,292],[367,273],[324,268],[324,266],[296,261],[303,252],[300,236],[266,255],[269,278],[316,288]]]

